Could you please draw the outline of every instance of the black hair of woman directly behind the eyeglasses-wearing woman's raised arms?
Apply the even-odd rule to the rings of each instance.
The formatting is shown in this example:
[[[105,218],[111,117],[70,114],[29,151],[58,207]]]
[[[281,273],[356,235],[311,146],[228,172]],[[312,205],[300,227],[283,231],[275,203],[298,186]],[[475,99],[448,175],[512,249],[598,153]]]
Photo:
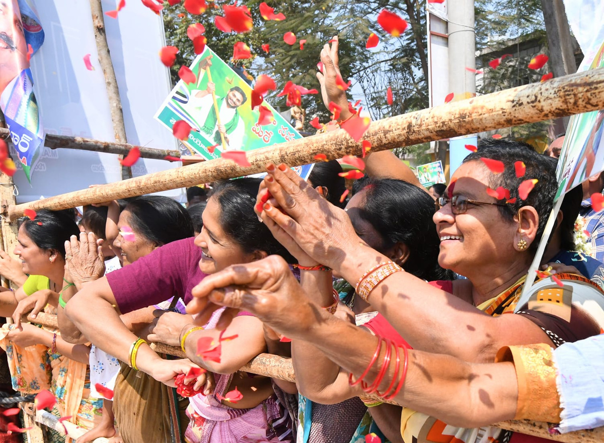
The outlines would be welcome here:
[[[409,249],[403,264],[406,272],[428,281],[452,279],[452,273],[439,265],[434,199],[426,191],[403,180],[371,177],[362,179],[355,191],[365,191],[359,215],[384,239],[379,252],[400,241]]]

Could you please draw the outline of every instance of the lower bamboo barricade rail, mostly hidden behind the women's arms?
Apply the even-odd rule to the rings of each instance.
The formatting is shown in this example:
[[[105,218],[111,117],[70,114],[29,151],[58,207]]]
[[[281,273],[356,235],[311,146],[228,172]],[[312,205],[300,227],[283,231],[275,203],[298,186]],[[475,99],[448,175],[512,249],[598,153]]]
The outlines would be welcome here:
[[[58,328],[57,316],[55,315],[42,312],[37,314],[36,319],[32,320],[42,326]],[[151,348],[155,352],[158,352],[158,354],[175,355],[181,359],[187,358],[187,355],[182,352],[182,349],[178,346],[170,346],[166,345],[165,343],[151,343]],[[243,366],[243,368],[240,370],[250,372],[251,374],[264,375],[265,377],[291,381],[292,383],[295,383],[296,381],[292,360],[285,357],[280,357],[279,355],[259,354],[254,357],[254,359],[250,360],[250,362]],[[383,398],[375,396],[370,397],[375,398],[376,400],[384,401]],[[399,403],[396,403],[396,401],[387,401],[385,403],[398,404],[401,406]],[[523,434],[534,435],[537,437],[565,443],[602,443],[604,441],[604,427],[599,427],[593,430],[588,429],[570,432],[567,434],[553,435],[550,433],[550,429],[553,427],[553,425],[544,422],[535,422],[530,420],[509,420],[496,423],[495,426],[500,427],[501,429],[509,429],[515,432],[521,432]]]

